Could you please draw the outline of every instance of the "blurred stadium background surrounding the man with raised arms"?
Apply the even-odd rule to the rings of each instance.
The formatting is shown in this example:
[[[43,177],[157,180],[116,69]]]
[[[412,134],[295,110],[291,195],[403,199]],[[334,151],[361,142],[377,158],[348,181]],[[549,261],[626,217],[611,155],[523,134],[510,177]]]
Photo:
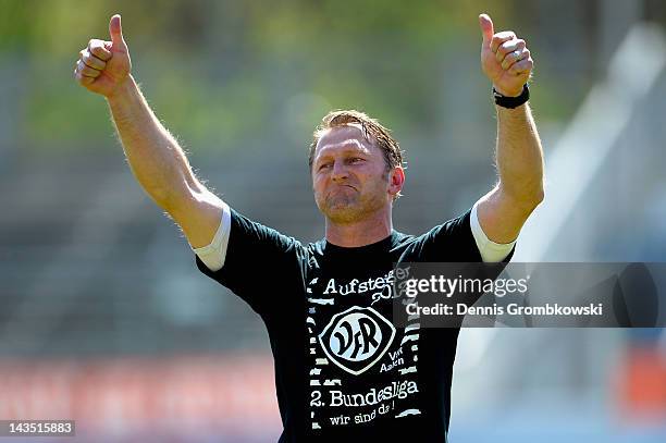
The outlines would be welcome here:
[[[103,99],[72,79],[115,12],[135,77],[199,175],[303,241],[323,235],[306,151],[330,109],[379,118],[407,151],[400,231],[455,217],[493,185],[477,23],[488,12],[536,63],[546,200],[516,260],[666,258],[663,0],[0,0],[0,419],[76,419],[82,442],[266,442],[281,429],[259,318],[198,273],[133,180]],[[666,441],[666,334],[462,331],[451,440],[535,439]]]

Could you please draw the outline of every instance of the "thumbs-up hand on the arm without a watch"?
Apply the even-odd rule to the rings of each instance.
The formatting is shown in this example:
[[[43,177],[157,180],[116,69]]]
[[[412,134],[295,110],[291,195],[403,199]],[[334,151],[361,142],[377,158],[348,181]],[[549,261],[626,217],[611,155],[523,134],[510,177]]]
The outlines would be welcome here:
[[[121,16],[109,22],[111,41],[92,39],[79,52],[74,67],[74,78],[86,89],[111,97],[130,76],[132,61],[123,39]]]

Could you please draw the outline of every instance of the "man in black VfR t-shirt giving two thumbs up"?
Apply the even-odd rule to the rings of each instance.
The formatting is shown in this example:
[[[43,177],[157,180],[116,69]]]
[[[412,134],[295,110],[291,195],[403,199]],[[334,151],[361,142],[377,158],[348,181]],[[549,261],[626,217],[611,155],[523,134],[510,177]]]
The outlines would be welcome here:
[[[363,113],[331,112],[309,156],[325,238],[309,245],[252,222],[197,180],[131,75],[120,15],[111,19],[111,41],[94,39],[81,51],[74,75],[107,98],[136,179],[180,224],[201,272],[264,321],[281,442],[446,441],[459,331],[395,328],[393,266],[508,261],[543,199],[541,144],[526,103],[530,52],[514,33],[495,34],[488,15],[479,21],[481,63],[497,103],[497,185],[423,235],[398,233],[392,225],[405,182],[398,144]]]

